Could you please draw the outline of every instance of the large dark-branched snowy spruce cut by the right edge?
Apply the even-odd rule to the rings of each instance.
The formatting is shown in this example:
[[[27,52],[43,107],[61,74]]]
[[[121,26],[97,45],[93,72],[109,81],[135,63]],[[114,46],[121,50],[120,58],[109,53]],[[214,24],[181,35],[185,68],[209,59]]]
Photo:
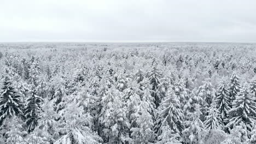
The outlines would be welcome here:
[[[247,87],[243,87],[233,101],[232,109],[228,112],[230,119],[226,127],[232,128],[244,123],[247,130],[251,130],[256,120],[256,103],[254,100]]]

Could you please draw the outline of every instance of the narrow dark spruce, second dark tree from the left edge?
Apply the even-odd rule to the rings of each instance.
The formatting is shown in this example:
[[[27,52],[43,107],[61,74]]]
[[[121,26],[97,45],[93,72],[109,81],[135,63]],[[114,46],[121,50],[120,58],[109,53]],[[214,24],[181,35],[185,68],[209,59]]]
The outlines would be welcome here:
[[[34,87],[32,87],[31,95],[26,99],[25,104],[25,117],[29,133],[33,131],[38,124],[38,113],[41,109],[40,103],[42,103],[42,101],[43,99],[36,94]]]

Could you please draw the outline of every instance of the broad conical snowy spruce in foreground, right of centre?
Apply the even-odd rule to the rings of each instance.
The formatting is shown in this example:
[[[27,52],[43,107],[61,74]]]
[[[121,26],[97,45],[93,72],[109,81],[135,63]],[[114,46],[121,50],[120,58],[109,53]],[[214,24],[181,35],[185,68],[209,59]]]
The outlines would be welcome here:
[[[172,91],[168,91],[165,100],[161,103],[160,118],[159,134],[161,134],[163,127],[166,125],[169,125],[170,129],[173,130],[174,133],[182,133],[182,130],[184,129],[184,115],[177,95]]]

